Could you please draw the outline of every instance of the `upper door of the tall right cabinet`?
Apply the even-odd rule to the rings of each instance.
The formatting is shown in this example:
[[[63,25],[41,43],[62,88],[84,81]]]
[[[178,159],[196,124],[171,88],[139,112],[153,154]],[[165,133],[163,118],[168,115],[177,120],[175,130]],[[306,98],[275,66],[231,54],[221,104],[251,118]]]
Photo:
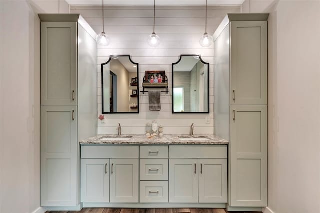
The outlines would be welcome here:
[[[230,104],[267,104],[267,21],[232,21]]]

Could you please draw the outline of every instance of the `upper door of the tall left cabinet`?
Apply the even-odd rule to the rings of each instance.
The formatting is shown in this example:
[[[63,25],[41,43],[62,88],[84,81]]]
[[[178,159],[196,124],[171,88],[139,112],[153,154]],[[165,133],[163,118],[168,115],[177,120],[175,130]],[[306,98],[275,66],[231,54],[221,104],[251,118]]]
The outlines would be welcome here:
[[[41,22],[41,105],[76,105],[77,22]]]

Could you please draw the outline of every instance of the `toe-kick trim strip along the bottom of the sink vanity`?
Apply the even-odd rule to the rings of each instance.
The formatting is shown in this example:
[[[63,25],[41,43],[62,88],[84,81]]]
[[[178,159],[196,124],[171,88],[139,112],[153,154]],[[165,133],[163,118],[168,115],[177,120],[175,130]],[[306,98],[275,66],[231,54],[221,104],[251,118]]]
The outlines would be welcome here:
[[[225,208],[225,203],[82,203],[83,207],[110,208]]]

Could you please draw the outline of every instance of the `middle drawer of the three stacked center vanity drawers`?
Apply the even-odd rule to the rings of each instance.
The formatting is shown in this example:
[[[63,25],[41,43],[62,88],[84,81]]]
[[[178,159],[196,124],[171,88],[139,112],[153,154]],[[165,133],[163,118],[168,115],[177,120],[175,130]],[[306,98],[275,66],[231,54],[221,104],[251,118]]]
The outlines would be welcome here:
[[[168,180],[168,159],[140,159],[140,180]]]

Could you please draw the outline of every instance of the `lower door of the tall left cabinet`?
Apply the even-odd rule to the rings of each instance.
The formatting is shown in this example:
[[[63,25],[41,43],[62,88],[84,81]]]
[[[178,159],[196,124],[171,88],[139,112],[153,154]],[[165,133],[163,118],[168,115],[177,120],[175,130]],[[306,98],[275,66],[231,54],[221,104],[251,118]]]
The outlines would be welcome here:
[[[41,206],[77,205],[76,106],[41,106]]]

